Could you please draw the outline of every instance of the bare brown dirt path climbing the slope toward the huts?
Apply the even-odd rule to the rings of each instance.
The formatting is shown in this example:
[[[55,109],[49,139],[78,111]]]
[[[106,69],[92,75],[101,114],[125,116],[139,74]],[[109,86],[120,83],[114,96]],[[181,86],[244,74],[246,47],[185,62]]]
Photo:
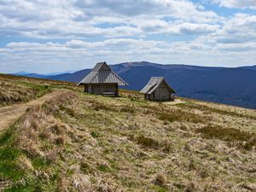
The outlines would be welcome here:
[[[7,106],[0,108],[0,133],[9,127],[16,119],[19,119],[20,116],[26,112],[27,108],[31,108],[36,105],[42,105],[44,102],[49,99],[58,96],[67,92],[68,90],[54,90],[53,92],[42,96],[36,100],[32,100],[31,102],[15,104],[12,106]]]

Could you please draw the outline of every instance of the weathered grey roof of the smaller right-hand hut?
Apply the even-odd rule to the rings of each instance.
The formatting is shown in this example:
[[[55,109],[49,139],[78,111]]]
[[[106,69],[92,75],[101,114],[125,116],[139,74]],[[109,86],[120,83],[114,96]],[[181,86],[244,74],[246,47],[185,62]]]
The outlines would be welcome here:
[[[167,84],[166,80],[163,77],[152,77],[148,81],[148,84],[146,84],[146,86],[140,92],[144,94],[151,94],[163,81]],[[176,91],[173,90],[169,84],[167,84],[167,87],[169,90],[172,91],[172,93],[176,93]]]

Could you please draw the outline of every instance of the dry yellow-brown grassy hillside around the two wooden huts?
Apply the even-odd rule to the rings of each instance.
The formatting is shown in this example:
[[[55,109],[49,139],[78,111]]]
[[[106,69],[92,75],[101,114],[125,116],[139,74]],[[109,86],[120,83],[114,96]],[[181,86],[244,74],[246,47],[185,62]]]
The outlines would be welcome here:
[[[67,92],[31,108],[0,137],[4,191],[252,191],[256,113],[182,99],[146,102]],[[1,189],[0,189],[1,190]]]

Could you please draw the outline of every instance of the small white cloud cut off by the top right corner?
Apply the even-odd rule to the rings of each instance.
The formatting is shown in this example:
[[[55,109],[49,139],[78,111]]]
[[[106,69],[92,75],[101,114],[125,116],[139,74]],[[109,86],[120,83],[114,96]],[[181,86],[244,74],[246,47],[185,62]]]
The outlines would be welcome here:
[[[212,2],[226,8],[256,9],[255,0],[213,0]]]

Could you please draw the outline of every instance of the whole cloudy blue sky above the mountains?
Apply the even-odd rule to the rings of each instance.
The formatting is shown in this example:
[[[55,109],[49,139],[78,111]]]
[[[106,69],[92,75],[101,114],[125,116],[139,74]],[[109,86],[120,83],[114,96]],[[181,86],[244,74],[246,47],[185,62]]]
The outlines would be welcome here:
[[[0,73],[256,65],[256,0],[0,0]]]

